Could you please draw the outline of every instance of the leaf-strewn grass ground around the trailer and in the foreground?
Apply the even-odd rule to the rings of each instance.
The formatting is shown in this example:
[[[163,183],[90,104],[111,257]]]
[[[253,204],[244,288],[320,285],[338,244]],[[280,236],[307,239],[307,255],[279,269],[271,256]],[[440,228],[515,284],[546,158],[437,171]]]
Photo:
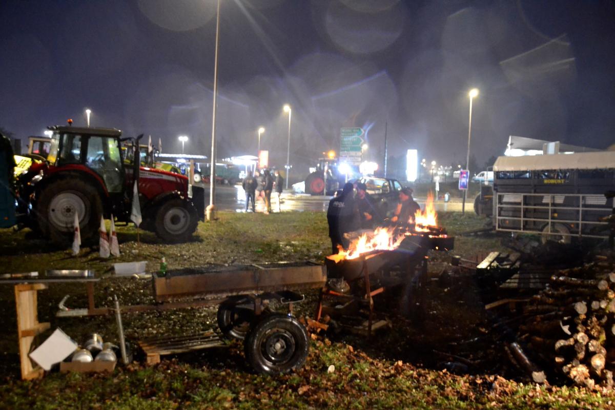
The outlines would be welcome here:
[[[483,226],[485,219],[449,213],[440,223],[450,234]],[[266,261],[322,261],[330,249],[323,213],[238,214],[220,213],[215,223],[200,223],[192,242],[165,245],[156,237],[119,227],[121,258],[101,260],[95,248],[84,246],[79,256],[57,250],[27,231],[0,231],[0,272],[45,269],[94,269],[110,275],[113,262],[148,261],[157,270],[164,256],[169,269],[205,264],[239,264]],[[456,237],[454,254],[470,256],[477,251],[499,250],[500,237]],[[450,255],[431,253],[430,270],[437,273]],[[104,278],[97,284],[98,306],[110,306],[114,295],[122,304],[153,302],[151,283],[132,278]],[[434,290],[439,292],[439,290]],[[112,317],[55,318],[57,303],[70,294],[66,304],[85,307],[85,291],[79,285],[50,285],[39,292],[39,320],[50,321],[76,341],[96,331],[116,340]],[[311,313],[315,294],[308,293],[298,315]],[[113,374],[50,373],[40,380],[22,382],[12,286],[0,287],[0,408],[10,409],[291,409],[291,408],[438,408],[438,409],[589,409],[615,408],[612,393],[589,392],[567,387],[538,387],[523,379],[508,380],[488,372],[456,376],[420,360],[430,341],[416,339],[406,328],[393,328],[371,341],[351,336],[319,336],[311,341],[306,366],[293,374],[259,376],[244,361],[242,345],[163,358],[147,367],[135,361]],[[181,309],[169,312],[125,314],[124,328],[132,340],[160,334],[192,333],[215,325],[215,309]],[[468,312],[465,312],[466,315]],[[463,315],[463,310],[459,310]],[[442,321],[423,329],[438,333]],[[432,327],[430,327],[432,326]],[[409,328],[411,329],[411,328]],[[475,329],[470,329],[474,331]],[[39,342],[46,335],[39,337]],[[404,337],[408,341],[403,341]],[[416,353],[415,352],[415,353]],[[494,358],[494,360],[496,360]],[[328,373],[330,365],[335,366]]]

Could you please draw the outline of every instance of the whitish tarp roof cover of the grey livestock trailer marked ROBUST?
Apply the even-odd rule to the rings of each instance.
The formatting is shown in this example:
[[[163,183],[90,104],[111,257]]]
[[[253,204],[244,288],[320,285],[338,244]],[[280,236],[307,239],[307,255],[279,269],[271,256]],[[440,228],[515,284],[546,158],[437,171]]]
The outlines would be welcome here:
[[[615,151],[498,157],[493,164],[494,171],[594,170],[603,168],[615,168]]]

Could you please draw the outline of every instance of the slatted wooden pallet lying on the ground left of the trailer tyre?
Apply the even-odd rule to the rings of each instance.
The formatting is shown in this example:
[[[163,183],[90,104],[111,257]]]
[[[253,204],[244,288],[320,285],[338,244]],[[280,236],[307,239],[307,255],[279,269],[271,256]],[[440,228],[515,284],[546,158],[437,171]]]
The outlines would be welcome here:
[[[160,363],[160,357],[177,353],[193,352],[224,345],[215,331],[206,331],[185,336],[151,337],[137,342],[147,355],[147,364]]]

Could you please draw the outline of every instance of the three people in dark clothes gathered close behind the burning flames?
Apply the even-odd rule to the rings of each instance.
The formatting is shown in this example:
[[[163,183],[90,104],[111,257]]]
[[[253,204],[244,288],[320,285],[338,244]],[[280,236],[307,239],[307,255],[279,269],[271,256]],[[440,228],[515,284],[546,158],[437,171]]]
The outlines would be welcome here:
[[[374,229],[385,224],[400,226],[410,224],[416,211],[421,209],[412,198],[412,193],[411,188],[399,191],[397,207],[393,216],[387,219],[386,215],[381,215],[378,205],[371,199],[364,183],[346,183],[341,194],[330,200],[327,211],[332,253],[338,253],[339,248],[348,249],[349,240],[344,237],[347,232]]]

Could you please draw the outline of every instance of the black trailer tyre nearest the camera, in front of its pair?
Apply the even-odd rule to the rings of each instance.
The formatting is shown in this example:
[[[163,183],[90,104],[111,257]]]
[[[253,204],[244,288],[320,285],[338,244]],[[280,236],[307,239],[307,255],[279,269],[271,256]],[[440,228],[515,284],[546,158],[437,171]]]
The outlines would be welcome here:
[[[288,373],[308,357],[308,332],[295,317],[270,313],[244,341],[245,358],[256,373]]]

